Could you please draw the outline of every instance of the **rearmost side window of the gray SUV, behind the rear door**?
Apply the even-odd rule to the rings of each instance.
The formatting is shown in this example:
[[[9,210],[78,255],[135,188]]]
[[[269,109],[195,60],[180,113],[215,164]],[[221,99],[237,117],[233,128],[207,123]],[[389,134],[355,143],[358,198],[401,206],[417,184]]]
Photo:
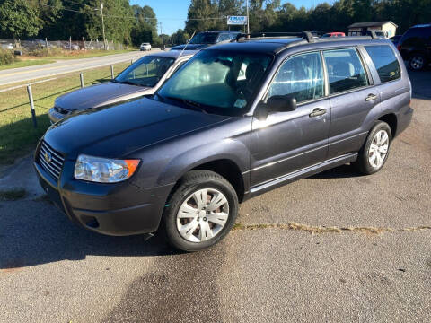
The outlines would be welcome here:
[[[400,64],[389,46],[365,46],[365,49],[373,60],[382,83],[400,78]]]

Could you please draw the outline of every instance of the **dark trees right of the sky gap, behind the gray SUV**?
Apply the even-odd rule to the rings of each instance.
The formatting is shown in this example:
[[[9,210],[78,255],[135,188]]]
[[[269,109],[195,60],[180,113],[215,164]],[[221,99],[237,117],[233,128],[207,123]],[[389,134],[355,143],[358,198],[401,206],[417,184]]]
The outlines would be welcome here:
[[[183,42],[193,31],[225,30],[225,16],[245,13],[244,0],[191,0],[185,29],[172,39]],[[402,34],[414,24],[431,22],[431,0],[339,0],[310,9],[280,0],[249,0],[249,13],[251,32],[346,30],[354,22],[392,21]]]

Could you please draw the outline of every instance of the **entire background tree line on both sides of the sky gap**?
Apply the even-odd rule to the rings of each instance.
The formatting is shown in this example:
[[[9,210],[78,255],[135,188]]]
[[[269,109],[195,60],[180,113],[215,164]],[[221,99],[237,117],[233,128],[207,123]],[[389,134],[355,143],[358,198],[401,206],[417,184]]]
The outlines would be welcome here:
[[[185,43],[195,31],[226,30],[226,16],[246,13],[245,0],[191,0],[184,30],[169,37],[157,34],[150,6],[130,5],[129,0],[102,3],[106,38],[136,46]],[[310,9],[280,0],[249,4],[251,32],[346,30],[354,22],[391,20],[403,33],[414,24],[431,22],[431,0],[338,0]],[[101,40],[101,35],[101,0],[0,0],[0,39]]]

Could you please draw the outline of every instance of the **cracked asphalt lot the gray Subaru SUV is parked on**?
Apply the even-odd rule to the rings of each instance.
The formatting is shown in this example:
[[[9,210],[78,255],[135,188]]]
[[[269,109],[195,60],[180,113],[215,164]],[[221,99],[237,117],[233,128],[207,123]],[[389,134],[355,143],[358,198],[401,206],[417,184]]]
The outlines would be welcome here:
[[[429,322],[431,72],[411,78],[414,118],[381,172],[343,166],[256,197],[238,219],[251,228],[204,252],[0,202],[0,321]]]

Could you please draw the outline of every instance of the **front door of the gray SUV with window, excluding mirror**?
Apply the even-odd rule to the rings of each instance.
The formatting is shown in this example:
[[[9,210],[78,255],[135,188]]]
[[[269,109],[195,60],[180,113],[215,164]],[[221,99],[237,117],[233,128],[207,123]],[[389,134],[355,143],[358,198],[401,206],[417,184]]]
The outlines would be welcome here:
[[[273,95],[294,96],[297,109],[253,118],[251,187],[323,162],[328,153],[330,101],[320,52],[289,57],[268,89]],[[269,107],[270,108],[270,107]]]

